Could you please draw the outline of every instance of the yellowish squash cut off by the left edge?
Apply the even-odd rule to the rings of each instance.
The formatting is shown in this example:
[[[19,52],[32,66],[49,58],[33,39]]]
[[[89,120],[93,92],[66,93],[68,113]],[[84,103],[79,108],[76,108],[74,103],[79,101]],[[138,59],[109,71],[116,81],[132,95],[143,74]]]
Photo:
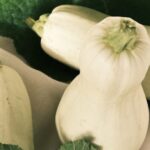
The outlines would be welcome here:
[[[0,65],[0,143],[33,150],[29,96],[19,74]]]

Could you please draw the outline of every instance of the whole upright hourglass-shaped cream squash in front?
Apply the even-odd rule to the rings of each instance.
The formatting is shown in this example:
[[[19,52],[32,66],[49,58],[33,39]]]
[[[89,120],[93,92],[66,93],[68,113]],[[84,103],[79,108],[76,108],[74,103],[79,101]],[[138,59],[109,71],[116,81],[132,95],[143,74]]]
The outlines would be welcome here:
[[[149,112],[141,86],[150,64],[150,39],[130,18],[94,26],[80,54],[80,74],[56,113],[62,142],[89,138],[103,150],[139,150]]]

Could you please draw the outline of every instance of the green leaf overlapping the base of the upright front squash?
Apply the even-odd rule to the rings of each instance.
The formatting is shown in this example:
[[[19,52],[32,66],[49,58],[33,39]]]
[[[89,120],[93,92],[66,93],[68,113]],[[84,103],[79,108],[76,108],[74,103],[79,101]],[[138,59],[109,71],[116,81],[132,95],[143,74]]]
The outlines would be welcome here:
[[[100,150],[101,148],[95,144],[92,144],[88,140],[77,140],[73,142],[67,142],[60,146],[59,150]]]

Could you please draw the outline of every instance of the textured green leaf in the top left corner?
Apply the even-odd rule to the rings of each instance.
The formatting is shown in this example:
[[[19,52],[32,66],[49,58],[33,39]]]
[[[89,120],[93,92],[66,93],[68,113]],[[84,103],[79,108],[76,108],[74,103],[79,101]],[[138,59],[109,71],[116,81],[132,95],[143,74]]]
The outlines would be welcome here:
[[[22,20],[32,14],[35,6],[35,0],[0,0],[0,10],[5,10],[0,13],[0,22],[23,26]]]

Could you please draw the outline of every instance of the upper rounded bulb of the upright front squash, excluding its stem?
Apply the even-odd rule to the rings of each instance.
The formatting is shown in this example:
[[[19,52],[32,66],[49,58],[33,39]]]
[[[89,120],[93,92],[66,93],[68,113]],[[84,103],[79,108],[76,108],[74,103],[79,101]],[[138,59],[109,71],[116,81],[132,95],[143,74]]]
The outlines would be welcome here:
[[[118,30],[122,19],[135,24],[136,41],[132,49],[116,53],[103,38],[111,32],[110,28]],[[80,53],[80,72],[102,93],[119,96],[143,81],[150,64],[149,47],[150,38],[144,26],[130,18],[107,17],[87,34]]]

